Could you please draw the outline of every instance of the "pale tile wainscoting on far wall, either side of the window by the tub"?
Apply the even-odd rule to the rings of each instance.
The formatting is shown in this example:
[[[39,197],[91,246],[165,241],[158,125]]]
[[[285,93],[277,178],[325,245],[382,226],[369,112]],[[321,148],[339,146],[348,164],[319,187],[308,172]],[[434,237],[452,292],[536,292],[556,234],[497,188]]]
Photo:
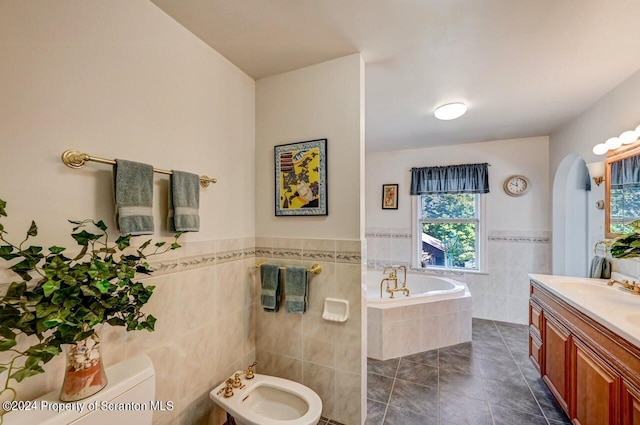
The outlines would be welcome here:
[[[410,229],[367,229],[367,266],[411,265]],[[488,232],[487,273],[453,273],[467,283],[473,317],[526,324],[528,273],[551,273],[551,232]]]

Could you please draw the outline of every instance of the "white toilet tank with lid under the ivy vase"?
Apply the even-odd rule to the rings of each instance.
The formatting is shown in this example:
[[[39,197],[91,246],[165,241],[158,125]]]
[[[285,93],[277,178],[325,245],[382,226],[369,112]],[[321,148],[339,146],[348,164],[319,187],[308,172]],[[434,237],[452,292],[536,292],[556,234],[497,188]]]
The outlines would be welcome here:
[[[151,359],[132,357],[106,369],[108,384],[97,394],[64,403],[54,390],[21,411],[4,416],[3,425],[151,425],[156,389]],[[67,410],[68,409],[68,410]]]

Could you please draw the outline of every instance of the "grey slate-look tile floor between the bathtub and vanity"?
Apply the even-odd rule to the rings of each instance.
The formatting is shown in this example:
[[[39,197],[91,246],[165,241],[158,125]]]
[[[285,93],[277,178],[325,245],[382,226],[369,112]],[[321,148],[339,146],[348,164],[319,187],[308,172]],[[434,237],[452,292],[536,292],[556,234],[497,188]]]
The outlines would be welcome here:
[[[524,325],[473,319],[472,342],[369,359],[367,380],[365,425],[571,423],[528,358]]]

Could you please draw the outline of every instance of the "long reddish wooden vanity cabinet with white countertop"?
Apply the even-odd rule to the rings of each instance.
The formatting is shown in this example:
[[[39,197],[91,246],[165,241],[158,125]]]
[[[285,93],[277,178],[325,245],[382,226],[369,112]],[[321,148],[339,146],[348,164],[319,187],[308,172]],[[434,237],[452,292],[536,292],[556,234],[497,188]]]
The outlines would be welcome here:
[[[640,425],[640,296],[529,275],[529,357],[574,424]]]

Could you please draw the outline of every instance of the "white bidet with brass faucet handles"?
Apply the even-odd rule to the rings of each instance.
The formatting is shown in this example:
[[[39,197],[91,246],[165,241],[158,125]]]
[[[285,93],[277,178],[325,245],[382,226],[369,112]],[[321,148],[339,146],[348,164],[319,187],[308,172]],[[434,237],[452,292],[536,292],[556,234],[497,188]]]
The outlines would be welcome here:
[[[225,382],[209,393],[238,425],[316,425],[320,419],[322,400],[311,388],[258,373],[242,383],[245,387],[234,388],[231,397],[220,391]]]

